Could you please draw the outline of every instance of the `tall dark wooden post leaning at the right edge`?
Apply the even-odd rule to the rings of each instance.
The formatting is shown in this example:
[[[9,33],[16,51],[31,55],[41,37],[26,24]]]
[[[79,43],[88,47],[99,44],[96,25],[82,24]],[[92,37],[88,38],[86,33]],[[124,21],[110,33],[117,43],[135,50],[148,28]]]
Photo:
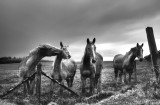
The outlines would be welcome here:
[[[150,49],[152,66],[154,67],[153,69],[156,74],[156,80],[159,83],[159,66],[157,64],[157,46],[156,46],[152,27],[147,27],[146,33],[147,33],[148,45]]]

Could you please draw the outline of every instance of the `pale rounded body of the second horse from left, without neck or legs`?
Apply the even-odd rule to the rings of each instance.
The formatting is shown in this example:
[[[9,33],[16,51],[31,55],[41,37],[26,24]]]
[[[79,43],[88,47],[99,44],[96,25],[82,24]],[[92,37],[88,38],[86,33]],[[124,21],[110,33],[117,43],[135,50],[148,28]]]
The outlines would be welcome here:
[[[69,75],[74,75],[77,69],[76,62],[73,59],[65,59],[62,61],[62,69]]]

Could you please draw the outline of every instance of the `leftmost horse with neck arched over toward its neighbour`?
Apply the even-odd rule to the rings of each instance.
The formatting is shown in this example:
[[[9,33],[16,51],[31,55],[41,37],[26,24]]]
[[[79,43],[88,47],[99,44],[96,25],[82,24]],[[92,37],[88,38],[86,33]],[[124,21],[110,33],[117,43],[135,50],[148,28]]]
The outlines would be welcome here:
[[[70,57],[68,52],[58,49],[50,44],[39,45],[37,48],[30,51],[29,55],[21,61],[18,67],[20,80],[23,81],[27,77],[30,77],[36,71],[35,67],[43,57],[56,55],[61,55],[64,59]],[[28,94],[33,94],[34,87],[34,79],[24,83],[24,94],[26,94],[26,92],[28,92]]]

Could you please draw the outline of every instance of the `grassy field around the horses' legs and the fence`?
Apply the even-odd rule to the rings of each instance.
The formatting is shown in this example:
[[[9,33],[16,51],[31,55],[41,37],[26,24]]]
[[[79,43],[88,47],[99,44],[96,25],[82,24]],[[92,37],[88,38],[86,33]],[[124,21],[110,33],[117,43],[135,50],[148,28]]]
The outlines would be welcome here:
[[[43,71],[50,75],[52,71],[52,62],[43,62]],[[4,93],[11,87],[14,87],[19,82],[18,64],[0,64],[0,94]],[[42,95],[41,104],[47,105],[50,102],[55,102],[58,105],[150,105],[160,104],[160,89],[154,83],[154,74],[151,71],[151,65],[144,61],[137,62],[137,76],[138,83],[130,85],[119,84],[116,88],[114,83],[114,71],[112,62],[104,62],[104,69],[102,71],[102,90],[103,92],[91,97],[76,97],[64,90],[63,95],[59,96],[58,86],[54,89],[54,94],[49,99],[49,83],[50,81],[42,76]],[[134,76],[133,76],[134,77]],[[4,99],[0,99],[0,105],[36,105],[38,104],[35,96],[25,96],[22,92],[21,86],[13,93],[7,95]],[[155,90],[156,89],[156,90]],[[73,88],[75,92],[81,94],[81,81],[79,68],[77,69]]]

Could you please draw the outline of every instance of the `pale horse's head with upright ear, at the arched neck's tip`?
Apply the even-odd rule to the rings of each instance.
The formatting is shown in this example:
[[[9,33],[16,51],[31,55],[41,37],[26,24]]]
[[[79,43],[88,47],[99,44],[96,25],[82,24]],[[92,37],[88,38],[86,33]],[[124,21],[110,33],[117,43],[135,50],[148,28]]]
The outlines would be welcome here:
[[[69,59],[71,58],[71,55],[67,49],[68,46],[64,46],[62,42],[60,42],[61,50],[62,50],[62,58]]]

